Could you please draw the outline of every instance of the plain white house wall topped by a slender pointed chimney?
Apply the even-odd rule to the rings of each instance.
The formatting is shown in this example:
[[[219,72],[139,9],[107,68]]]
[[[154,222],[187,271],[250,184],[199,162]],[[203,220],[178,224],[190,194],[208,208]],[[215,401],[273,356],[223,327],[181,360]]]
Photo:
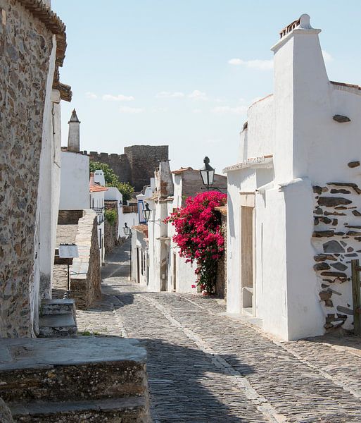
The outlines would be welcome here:
[[[61,152],[59,209],[89,209],[89,156],[80,154],[80,121],[75,109],[68,124],[68,147]]]

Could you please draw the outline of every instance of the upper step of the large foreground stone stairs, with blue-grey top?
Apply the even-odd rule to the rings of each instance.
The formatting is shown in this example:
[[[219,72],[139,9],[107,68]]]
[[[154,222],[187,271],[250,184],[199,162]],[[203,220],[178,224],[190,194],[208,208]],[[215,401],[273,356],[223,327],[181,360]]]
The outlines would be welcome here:
[[[146,396],[146,350],[117,337],[1,339],[7,403]]]

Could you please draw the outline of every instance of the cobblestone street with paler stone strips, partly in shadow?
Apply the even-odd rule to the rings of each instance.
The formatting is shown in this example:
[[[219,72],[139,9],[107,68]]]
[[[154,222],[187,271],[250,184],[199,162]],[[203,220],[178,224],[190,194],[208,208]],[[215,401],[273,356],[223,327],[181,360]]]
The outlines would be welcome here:
[[[130,283],[128,251],[107,257],[103,297],[77,323],[146,347],[154,422],[361,422],[358,338],[272,340],[222,300]]]

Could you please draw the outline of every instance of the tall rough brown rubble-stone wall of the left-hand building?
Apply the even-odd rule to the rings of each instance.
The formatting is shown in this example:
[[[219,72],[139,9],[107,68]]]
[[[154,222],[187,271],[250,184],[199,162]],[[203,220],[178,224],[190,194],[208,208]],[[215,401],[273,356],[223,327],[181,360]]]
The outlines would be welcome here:
[[[39,163],[52,34],[0,0],[0,336],[33,336]]]

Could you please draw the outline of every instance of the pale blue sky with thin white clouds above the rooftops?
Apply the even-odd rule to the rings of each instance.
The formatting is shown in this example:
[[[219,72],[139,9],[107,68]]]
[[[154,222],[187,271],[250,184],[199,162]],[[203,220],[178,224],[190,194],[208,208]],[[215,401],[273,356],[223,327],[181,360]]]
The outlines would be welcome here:
[[[279,31],[302,13],[330,80],[361,85],[361,1],[52,0],[67,26],[63,145],[73,108],[81,149],[169,145],[170,166],[222,173],[238,161],[248,106],[272,92]]]

